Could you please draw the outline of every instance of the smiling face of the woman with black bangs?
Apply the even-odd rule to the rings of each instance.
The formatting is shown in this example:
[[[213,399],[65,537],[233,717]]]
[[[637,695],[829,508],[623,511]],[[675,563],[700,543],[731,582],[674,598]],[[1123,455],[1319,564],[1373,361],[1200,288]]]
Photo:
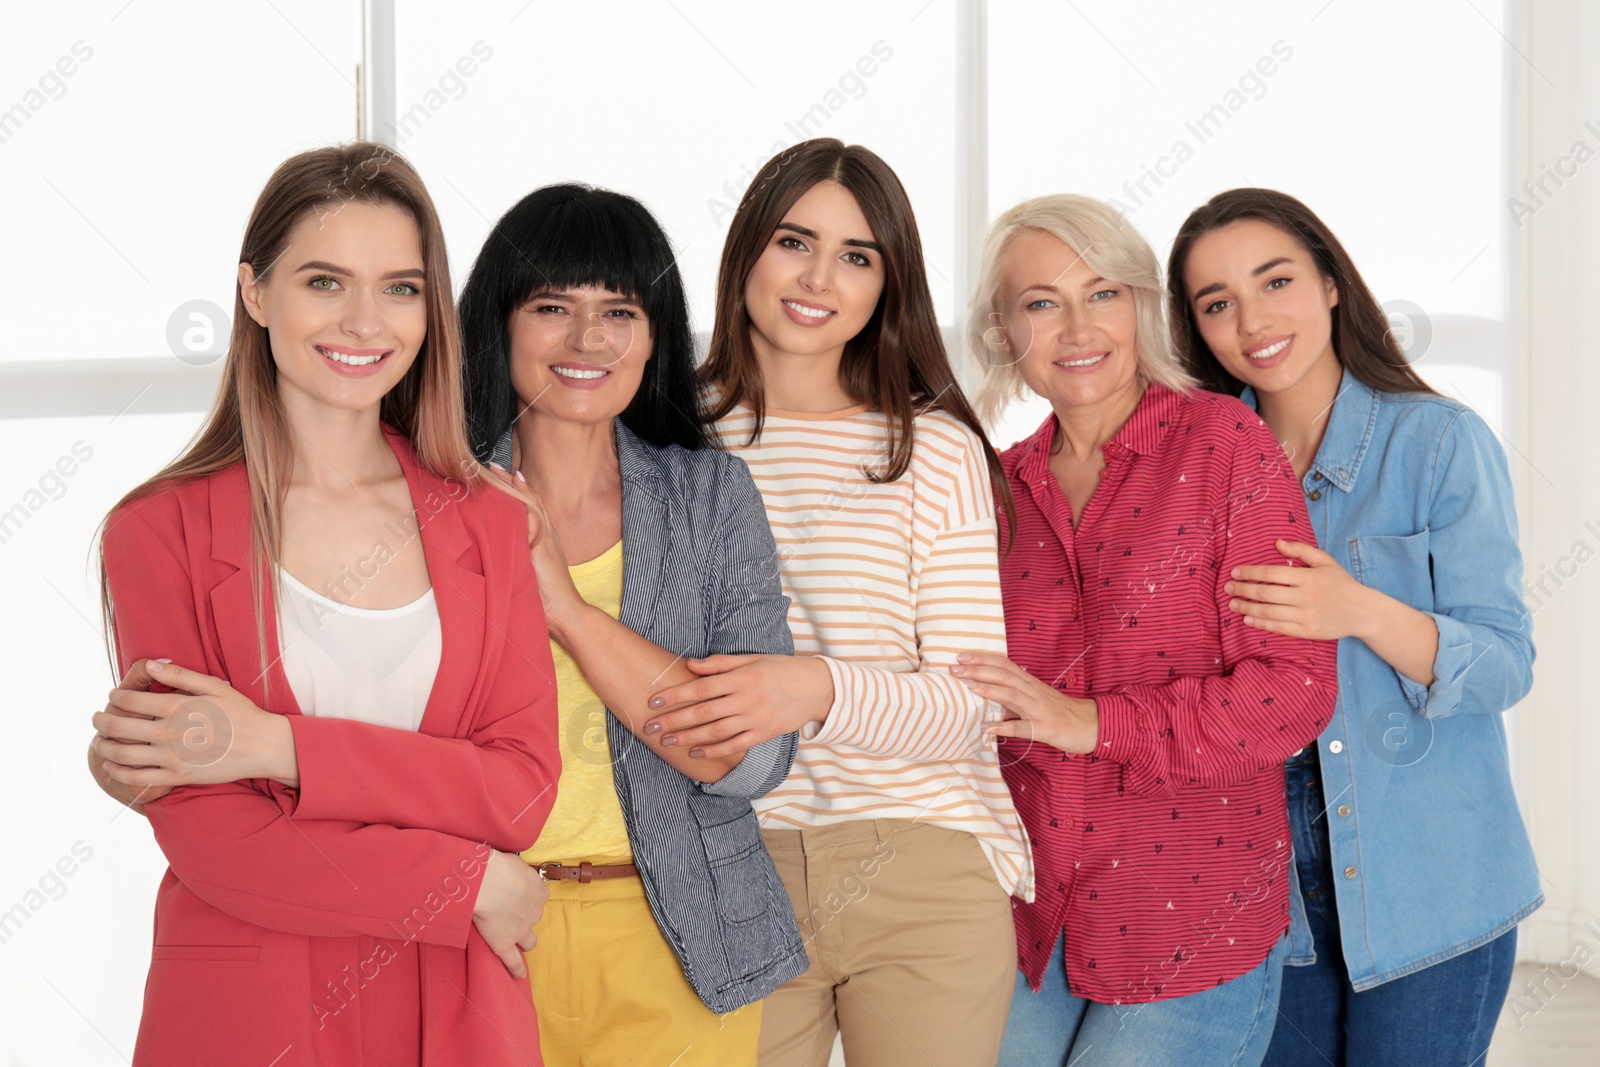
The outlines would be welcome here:
[[[586,285],[534,293],[512,312],[510,384],[533,418],[610,422],[651,357],[651,325],[626,293]]]

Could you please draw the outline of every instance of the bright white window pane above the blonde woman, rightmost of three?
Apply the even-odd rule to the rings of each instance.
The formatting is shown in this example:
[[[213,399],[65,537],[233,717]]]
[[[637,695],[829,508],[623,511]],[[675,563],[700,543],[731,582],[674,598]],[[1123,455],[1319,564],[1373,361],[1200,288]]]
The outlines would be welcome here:
[[[1211,195],[1275,187],[1328,222],[1379,301],[1501,320],[1506,56],[1522,62],[1501,8],[989,5],[990,205],[1115,197],[1165,259]]]

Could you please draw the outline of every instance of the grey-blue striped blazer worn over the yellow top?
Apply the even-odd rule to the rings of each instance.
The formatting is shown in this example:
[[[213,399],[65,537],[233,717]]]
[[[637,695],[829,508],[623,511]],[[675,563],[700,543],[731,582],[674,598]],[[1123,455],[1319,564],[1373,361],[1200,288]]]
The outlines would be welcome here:
[[[491,454],[506,469],[510,440],[506,430]],[[621,419],[616,453],[621,622],[680,656],[794,654],[778,545],[744,461],[717,448],[654,448]],[[795,734],[750,749],[710,785],[610,713],[606,741],[650,910],[706,1006],[723,1014],[802,974],[810,961],[794,905],[750,808],[789,774]]]

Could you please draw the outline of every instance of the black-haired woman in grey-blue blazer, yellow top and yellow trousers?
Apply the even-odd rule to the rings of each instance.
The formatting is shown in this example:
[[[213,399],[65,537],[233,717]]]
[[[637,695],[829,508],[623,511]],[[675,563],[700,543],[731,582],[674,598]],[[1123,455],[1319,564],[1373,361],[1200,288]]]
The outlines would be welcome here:
[[[474,450],[531,490],[563,768],[523,857],[550,881],[528,953],[547,1064],[755,1064],[758,1000],[806,968],[750,798],[795,736],[664,747],[645,701],[685,657],[794,649],[766,510],[709,448],[672,246],[630,197],[549,186],[461,294]]]

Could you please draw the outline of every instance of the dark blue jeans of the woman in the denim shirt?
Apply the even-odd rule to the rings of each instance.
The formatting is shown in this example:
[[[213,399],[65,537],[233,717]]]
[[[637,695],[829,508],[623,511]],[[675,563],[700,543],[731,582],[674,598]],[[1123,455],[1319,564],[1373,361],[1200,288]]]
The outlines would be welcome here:
[[[1317,963],[1283,968],[1278,1027],[1264,1062],[1269,1067],[1483,1064],[1510,987],[1515,928],[1459,957],[1357,993],[1344,969],[1315,749],[1290,760],[1288,798],[1294,869]]]

